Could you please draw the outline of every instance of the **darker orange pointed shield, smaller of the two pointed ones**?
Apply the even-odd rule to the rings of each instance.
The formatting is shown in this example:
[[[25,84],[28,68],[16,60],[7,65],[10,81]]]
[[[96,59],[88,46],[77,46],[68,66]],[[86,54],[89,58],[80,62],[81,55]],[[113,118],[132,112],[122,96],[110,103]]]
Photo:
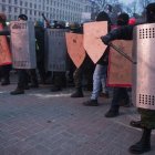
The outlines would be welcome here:
[[[65,33],[68,53],[75,64],[80,68],[85,59],[85,50],[83,48],[83,34]]]

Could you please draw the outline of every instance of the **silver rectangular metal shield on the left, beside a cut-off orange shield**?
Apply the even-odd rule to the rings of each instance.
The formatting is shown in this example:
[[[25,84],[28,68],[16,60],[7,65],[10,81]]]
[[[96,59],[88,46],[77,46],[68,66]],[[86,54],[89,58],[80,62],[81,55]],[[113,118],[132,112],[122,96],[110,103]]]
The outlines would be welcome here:
[[[14,69],[35,69],[34,23],[31,21],[12,21],[11,49]]]

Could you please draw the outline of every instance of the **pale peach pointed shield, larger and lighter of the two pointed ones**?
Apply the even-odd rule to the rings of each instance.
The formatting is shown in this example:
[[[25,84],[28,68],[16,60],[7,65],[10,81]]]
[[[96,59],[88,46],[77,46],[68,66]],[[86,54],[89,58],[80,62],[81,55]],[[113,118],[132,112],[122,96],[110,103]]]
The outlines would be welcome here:
[[[84,23],[84,49],[94,63],[101,59],[106,49],[100,39],[105,34],[107,34],[107,21]]]

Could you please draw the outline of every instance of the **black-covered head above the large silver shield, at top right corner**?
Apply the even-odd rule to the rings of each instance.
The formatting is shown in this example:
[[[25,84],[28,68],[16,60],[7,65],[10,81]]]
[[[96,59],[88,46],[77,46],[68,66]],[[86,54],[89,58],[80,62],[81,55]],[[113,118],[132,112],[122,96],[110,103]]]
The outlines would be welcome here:
[[[146,7],[146,19],[149,23],[155,22],[155,2]]]

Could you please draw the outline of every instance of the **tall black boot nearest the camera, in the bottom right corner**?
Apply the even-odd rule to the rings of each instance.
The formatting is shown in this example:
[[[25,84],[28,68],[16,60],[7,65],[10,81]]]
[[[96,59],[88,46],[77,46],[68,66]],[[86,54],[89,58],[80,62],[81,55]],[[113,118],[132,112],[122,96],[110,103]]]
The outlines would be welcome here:
[[[151,151],[151,133],[152,133],[152,130],[144,128],[141,141],[130,147],[130,153],[143,154],[145,152],[149,152]]]

